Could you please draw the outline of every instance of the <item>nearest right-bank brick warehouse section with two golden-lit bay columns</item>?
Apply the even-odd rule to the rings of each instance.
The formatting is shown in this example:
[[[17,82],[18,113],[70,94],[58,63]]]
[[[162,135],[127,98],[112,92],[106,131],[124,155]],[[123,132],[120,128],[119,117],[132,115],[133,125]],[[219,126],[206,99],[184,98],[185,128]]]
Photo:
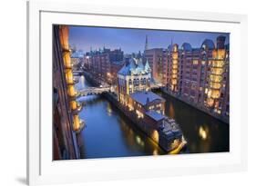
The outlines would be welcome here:
[[[184,43],[170,56],[169,92],[174,89],[182,101],[220,119],[229,118],[229,45],[225,45],[225,37],[217,38],[216,47],[209,39],[200,48]],[[177,63],[178,71],[172,66]]]

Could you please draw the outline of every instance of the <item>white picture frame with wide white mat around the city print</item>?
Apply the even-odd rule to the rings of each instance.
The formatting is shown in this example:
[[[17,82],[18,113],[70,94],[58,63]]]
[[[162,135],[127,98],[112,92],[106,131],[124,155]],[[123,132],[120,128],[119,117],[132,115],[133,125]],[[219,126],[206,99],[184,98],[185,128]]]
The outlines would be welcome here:
[[[29,185],[247,169],[247,99],[242,100],[243,97],[247,97],[246,15],[31,1],[27,3],[27,20],[27,183]],[[52,87],[50,83],[52,79],[51,75],[48,75],[52,63],[52,24],[229,32],[232,62],[230,63],[230,152],[53,162],[51,160],[52,122],[50,117],[46,117],[48,114],[51,115],[51,109],[48,108],[51,108],[52,102],[52,92],[49,91]],[[132,166],[135,164],[136,168]]]

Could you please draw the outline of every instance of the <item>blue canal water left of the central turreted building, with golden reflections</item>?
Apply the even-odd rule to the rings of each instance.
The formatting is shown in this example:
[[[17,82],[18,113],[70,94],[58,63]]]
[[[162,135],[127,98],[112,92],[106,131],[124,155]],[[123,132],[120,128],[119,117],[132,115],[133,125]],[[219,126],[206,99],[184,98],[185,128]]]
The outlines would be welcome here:
[[[89,85],[87,80],[85,83],[85,86]],[[82,87],[78,84],[77,86]],[[87,128],[81,132],[84,142],[84,146],[80,148],[82,158],[165,153],[106,98],[100,95],[91,95],[80,97],[77,101],[86,105],[79,113],[81,119],[87,123]]]

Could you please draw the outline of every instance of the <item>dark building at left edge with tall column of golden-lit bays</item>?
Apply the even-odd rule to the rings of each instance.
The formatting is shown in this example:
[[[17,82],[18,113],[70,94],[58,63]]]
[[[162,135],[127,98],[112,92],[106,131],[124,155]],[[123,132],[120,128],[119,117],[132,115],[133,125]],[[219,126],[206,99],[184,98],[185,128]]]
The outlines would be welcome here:
[[[85,126],[79,119],[82,106],[76,102],[73,64],[68,44],[68,26],[54,26],[53,47],[53,137],[54,160],[77,159],[77,133]]]

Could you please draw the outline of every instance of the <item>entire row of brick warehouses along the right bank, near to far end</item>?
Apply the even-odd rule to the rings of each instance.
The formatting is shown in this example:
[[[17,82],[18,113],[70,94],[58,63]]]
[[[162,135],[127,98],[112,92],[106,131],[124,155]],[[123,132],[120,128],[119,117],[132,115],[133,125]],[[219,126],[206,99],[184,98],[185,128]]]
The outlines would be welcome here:
[[[147,38],[148,44],[148,38]],[[229,44],[219,36],[216,44],[205,39],[199,48],[189,43],[168,49],[152,48],[144,51],[154,81],[168,88],[180,100],[212,113],[229,118]]]

